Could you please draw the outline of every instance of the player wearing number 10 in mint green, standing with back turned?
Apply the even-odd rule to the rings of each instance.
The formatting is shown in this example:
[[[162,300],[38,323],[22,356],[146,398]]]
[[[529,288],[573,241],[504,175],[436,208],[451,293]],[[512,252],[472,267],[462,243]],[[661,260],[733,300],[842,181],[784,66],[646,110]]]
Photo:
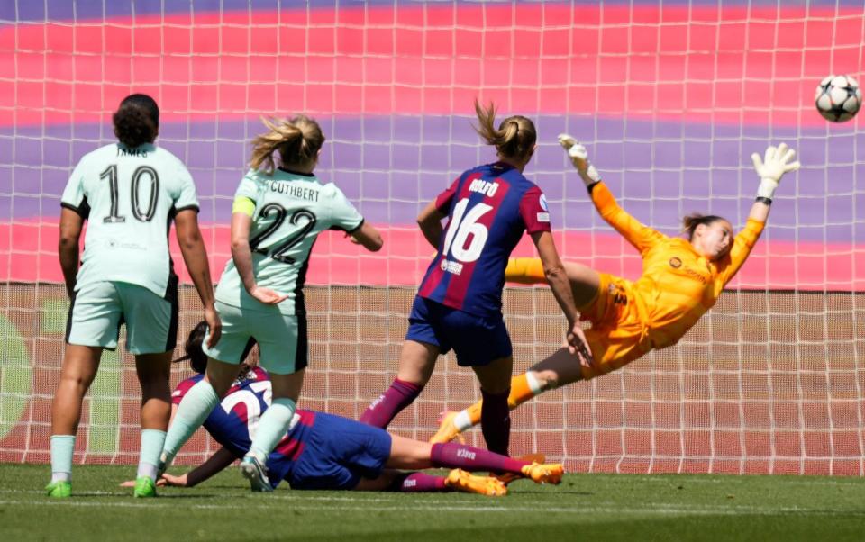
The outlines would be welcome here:
[[[104,348],[126,348],[141,384],[141,457],[134,496],[156,495],[159,454],[171,414],[169,373],[178,333],[178,277],[168,253],[175,221],[178,244],[214,332],[221,324],[198,230],[196,185],[183,163],[153,145],[159,107],[130,95],[114,113],[118,142],[87,154],[69,177],[60,202],[59,258],[71,301],[67,347],[51,405],[51,497],[72,491],[72,456],[81,402],[96,377]],[[78,242],[88,221],[84,255]]]

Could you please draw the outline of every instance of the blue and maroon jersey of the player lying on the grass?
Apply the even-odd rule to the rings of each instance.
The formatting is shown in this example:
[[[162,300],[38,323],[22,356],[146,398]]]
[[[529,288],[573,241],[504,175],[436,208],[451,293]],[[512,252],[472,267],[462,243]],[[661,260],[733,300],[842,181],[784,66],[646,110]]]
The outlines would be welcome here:
[[[204,378],[196,375],[187,378],[171,394],[171,402],[179,404],[189,388]],[[259,425],[261,414],[270,406],[270,379],[268,374],[256,367],[248,375],[234,381],[223,401],[205,420],[204,427],[210,436],[235,456],[250,450],[252,436]],[[307,435],[315,421],[315,413],[298,409],[291,420],[285,437],[270,453],[268,476],[274,487],[291,473],[294,462],[304,449]]]

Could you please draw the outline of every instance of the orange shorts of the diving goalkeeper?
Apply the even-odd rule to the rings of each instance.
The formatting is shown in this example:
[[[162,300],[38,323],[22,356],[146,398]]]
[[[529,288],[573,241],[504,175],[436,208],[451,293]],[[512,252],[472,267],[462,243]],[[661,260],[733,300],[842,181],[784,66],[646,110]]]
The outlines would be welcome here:
[[[586,339],[595,358],[595,366],[582,367],[585,380],[615,371],[651,350],[645,311],[631,282],[606,273],[598,275],[601,281],[595,299],[580,308],[581,320],[592,324]]]

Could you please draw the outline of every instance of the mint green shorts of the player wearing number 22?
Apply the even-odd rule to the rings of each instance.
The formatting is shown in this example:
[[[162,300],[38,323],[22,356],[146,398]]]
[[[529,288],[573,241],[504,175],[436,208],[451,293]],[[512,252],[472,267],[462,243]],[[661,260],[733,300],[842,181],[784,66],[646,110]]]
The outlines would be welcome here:
[[[272,311],[241,311],[216,302],[216,312],[223,322],[223,333],[214,348],[207,348],[207,331],[202,349],[205,354],[224,363],[240,364],[256,343],[259,365],[274,375],[291,375],[305,368],[308,357],[306,315]]]

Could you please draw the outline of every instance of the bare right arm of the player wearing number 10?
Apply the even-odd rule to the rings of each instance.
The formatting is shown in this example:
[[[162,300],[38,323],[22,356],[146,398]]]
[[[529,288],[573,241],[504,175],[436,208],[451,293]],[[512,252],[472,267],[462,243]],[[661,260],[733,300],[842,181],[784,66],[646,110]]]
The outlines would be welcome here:
[[[205,307],[205,321],[210,328],[207,346],[213,347],[219,341],[223,326],[214,307],[214,281],[210,277],[205,241],[201,238],[201,230],[198,229],[198,212],[194,209],[178,212],[174,217],[174,224],[183,261],[187,264],[189,276],[192,277],[198,297]]]

